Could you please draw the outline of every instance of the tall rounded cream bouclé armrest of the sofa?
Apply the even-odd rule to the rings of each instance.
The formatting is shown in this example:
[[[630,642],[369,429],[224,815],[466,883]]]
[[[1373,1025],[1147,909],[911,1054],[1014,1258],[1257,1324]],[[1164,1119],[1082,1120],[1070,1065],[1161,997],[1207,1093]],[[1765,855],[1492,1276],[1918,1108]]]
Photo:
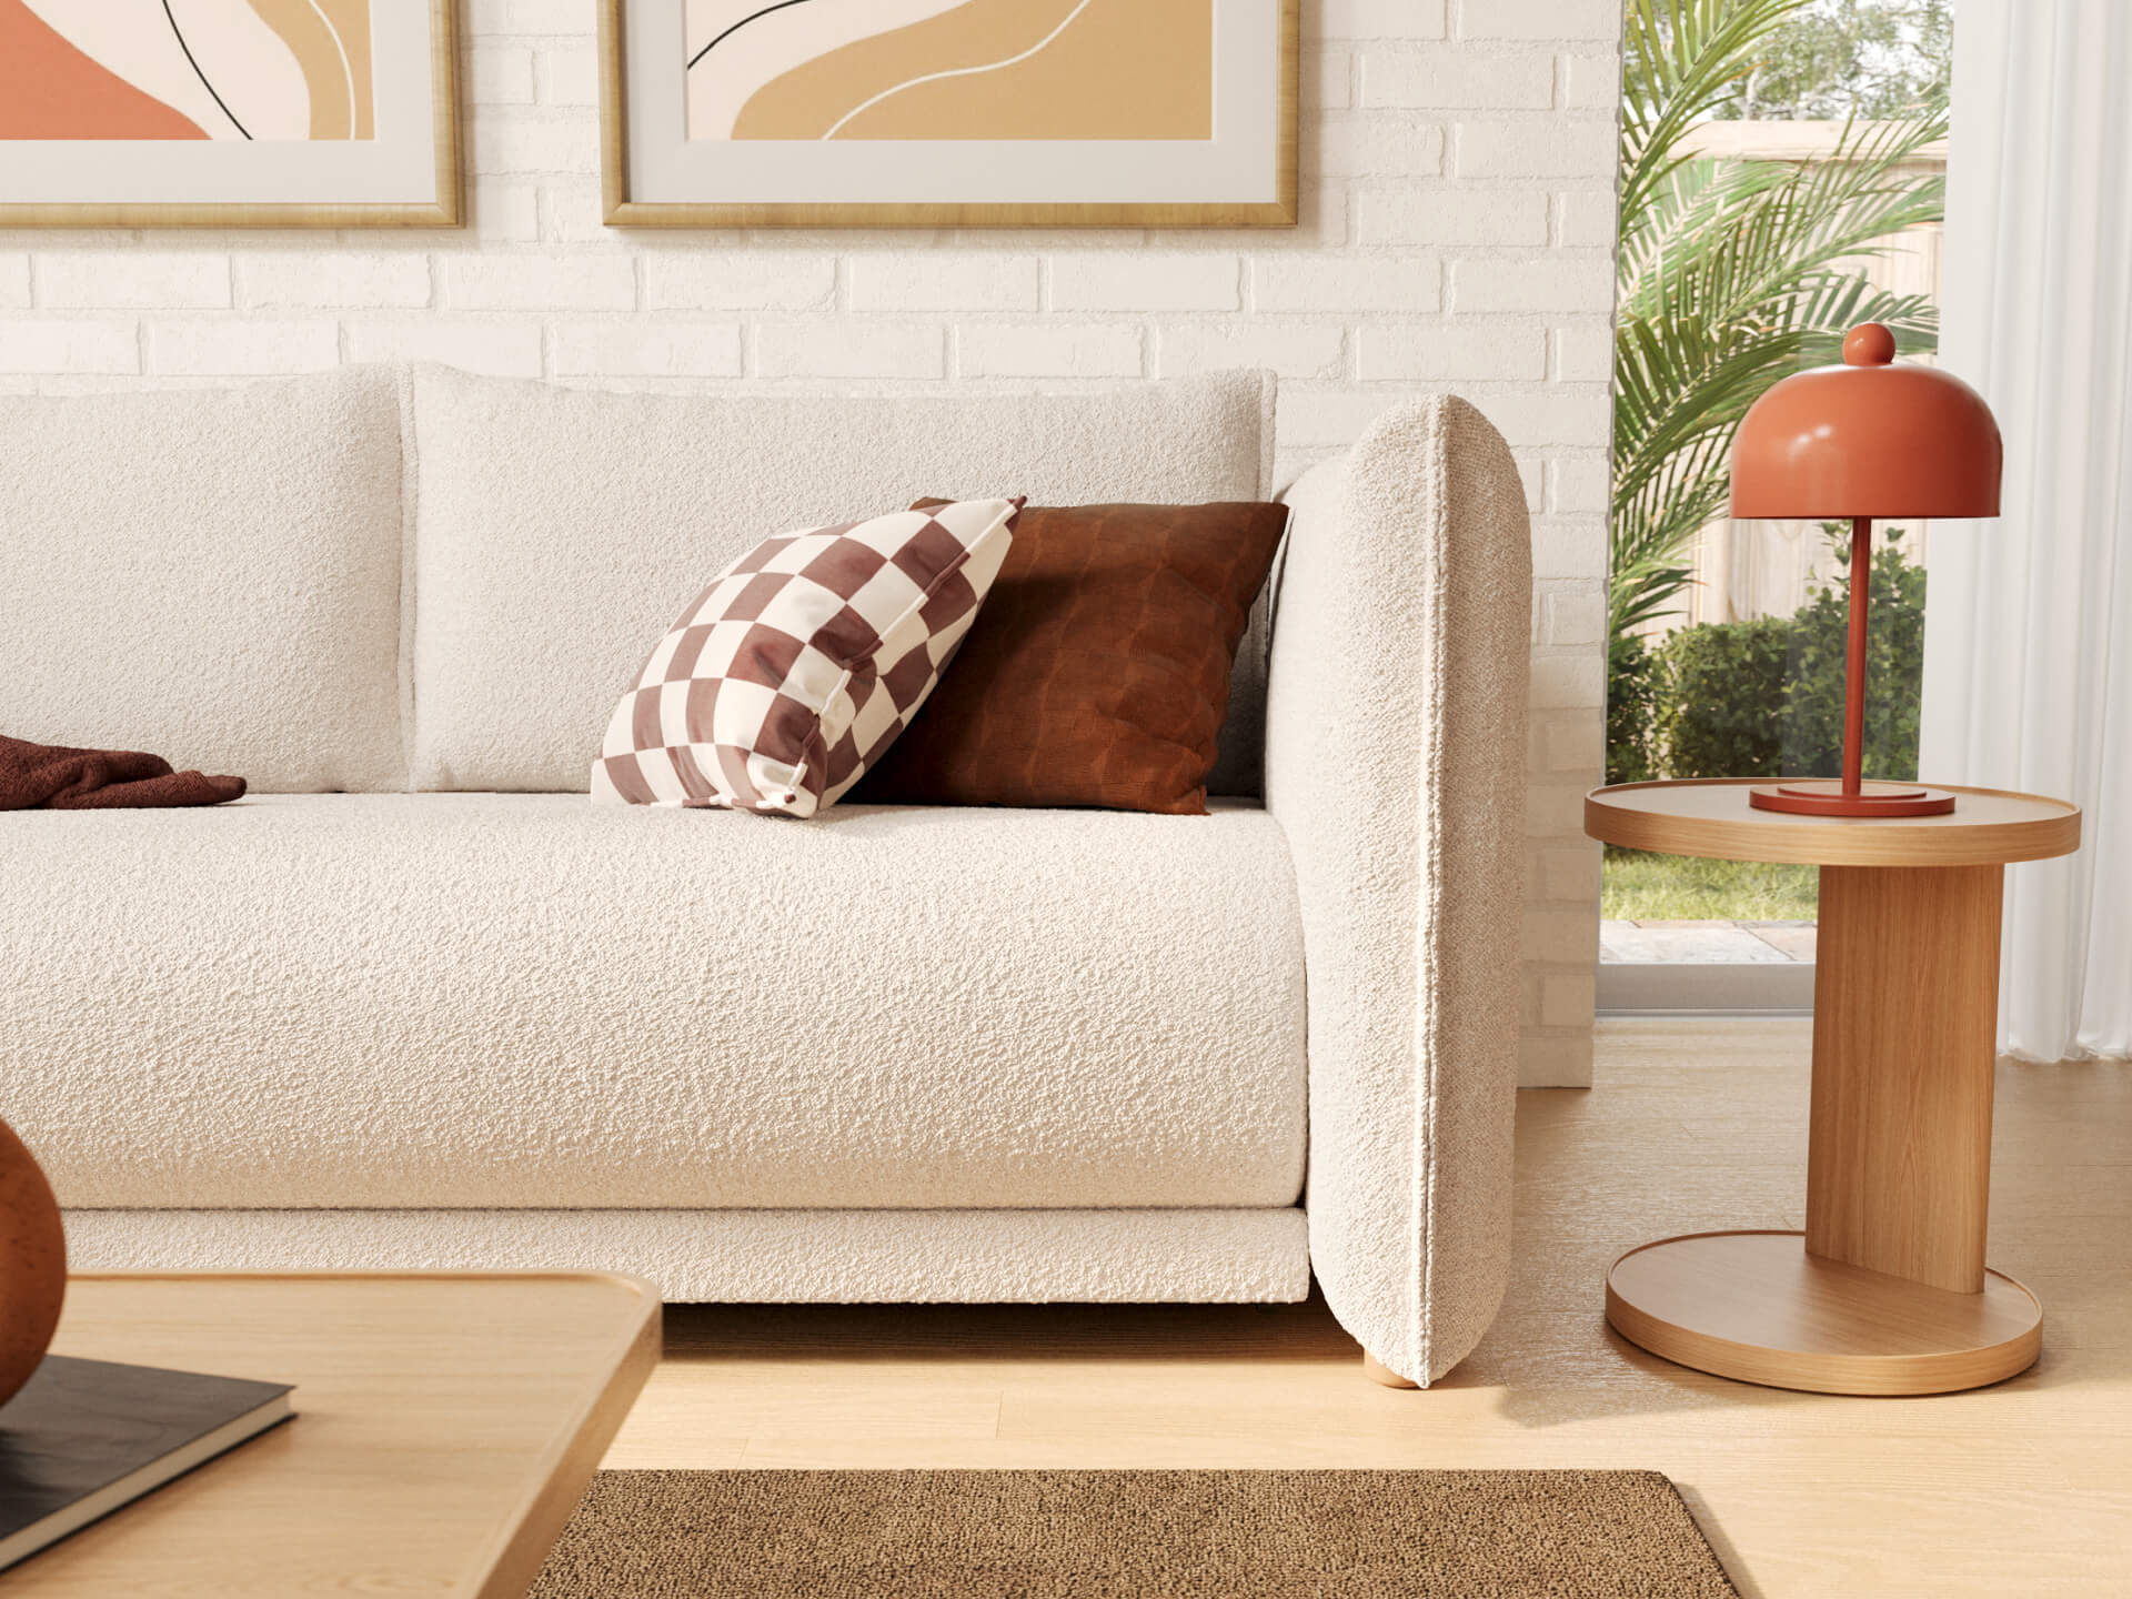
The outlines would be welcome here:
[[[1407,405],[1288,490],[1266,808],[1309,979],[1326,1301],[1428,1384],[1509,1275],[1531,529],[1503,437]]]

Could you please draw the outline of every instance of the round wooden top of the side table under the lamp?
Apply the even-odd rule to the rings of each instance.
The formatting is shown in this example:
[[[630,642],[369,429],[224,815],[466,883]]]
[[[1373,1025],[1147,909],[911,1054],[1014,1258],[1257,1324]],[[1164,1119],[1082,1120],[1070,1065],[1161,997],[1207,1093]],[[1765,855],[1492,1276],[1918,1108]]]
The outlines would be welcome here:
[[[1584,831],[1659,855],[1808,866],[2004,866],[2081,846],[2081,808],[2036,793],[1936,782],[1932,787],[1959,795],[1944,817],[1799,817],[1748,806],[1746,791],[1767,780],[1593,789],[1584,795]]]

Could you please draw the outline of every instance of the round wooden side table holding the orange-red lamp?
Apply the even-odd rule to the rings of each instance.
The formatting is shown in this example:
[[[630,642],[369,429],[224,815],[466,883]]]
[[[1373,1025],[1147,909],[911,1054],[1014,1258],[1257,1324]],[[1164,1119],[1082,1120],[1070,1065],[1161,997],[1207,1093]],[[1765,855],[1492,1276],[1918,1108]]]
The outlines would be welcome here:
[[[1608,844],[1821,868],[1806,1232],[1697,1232],[1608,1271],[1631,1343],[1823,1394],[1944,1394],[2034,1364],[2042,1305],[1985,1266],[2006,866],[2070,855],[2079,806],[1953,789],[1944,817],[1750,810],[1748,780],[1584,797]]]

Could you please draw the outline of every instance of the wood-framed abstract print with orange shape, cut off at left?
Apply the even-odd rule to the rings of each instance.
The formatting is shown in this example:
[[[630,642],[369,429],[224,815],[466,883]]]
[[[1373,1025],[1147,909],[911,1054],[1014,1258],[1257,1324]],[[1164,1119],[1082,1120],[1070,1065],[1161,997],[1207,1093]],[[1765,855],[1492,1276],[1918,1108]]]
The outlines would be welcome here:
[[[452,0],[0,0],[0,226],[461,220]]]

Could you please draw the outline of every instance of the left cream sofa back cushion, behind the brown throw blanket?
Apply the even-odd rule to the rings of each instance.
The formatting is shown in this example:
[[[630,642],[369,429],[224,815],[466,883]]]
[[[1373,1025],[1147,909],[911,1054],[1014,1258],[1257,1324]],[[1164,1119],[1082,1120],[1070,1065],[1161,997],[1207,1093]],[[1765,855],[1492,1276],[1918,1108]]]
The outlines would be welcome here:
[[[390,371],[0,397],[0,733],[403,789]]]

